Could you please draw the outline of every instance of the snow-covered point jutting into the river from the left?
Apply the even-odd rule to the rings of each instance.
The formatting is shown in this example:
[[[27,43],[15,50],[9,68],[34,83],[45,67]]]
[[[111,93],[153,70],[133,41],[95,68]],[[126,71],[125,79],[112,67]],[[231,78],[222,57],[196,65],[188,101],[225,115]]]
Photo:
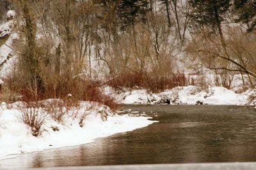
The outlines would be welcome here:
[[[0,159],[15,157],[17,155],[13,154],[17,153],[37,152],[49,148],[90,143],[95,138],[132,131],[156,122],[148,120],[150,117],[116,115],[107,106],[83,102],[77,106],[78,108],[72,108],[68,111],[63,124],[54,121],[47,115],[42,135],[35,137],[31,134],[31,129],[19,121],[22,114],[20,110],[6,109],[12,106],[17,108],[17,106],[24,106],[24,103],[9,106],[6,104],[4,106],[4,103],[1,104]],[[105,122],[102,121],[102,114],[100,114],[102,111],[109,115]],[[86,115],[86,118],[81,127],[79,122],[83,115]]]

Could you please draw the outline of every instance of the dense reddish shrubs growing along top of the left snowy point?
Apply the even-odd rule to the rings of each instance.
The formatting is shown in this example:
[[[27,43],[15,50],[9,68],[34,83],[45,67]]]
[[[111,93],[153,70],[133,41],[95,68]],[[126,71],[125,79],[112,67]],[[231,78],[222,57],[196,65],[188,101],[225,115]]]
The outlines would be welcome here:
[[[22,101],[25,102],[40,101],[49,98],[66,99],[68,94],[72,94],[72,97],[68,97],[68,103],[70,104],[76,104],[77,101],[95,101],[105,104],[111,109],[115,109],[115,100],[100,90],[101,84],[101,81],[76,78],[72,80],[61,80],[55,89],[52,88],[54,85],[47,83],[44,85],[44,91],[24,87],[20,90],[19,94],[22,96]]]

